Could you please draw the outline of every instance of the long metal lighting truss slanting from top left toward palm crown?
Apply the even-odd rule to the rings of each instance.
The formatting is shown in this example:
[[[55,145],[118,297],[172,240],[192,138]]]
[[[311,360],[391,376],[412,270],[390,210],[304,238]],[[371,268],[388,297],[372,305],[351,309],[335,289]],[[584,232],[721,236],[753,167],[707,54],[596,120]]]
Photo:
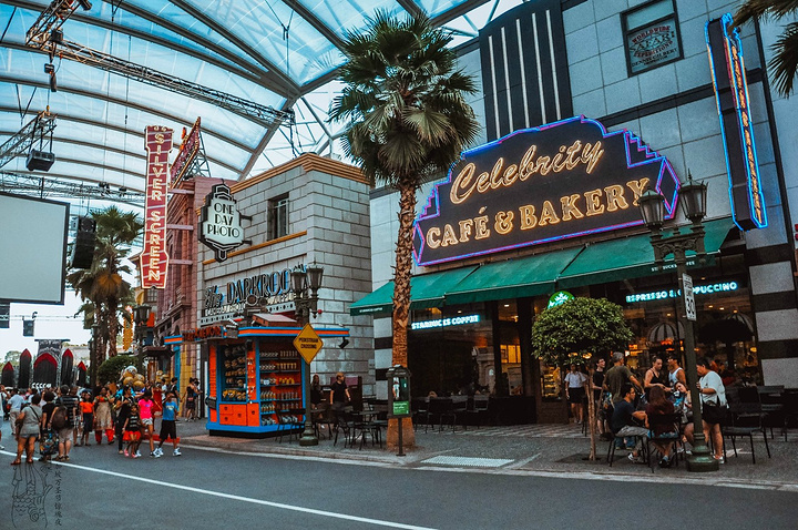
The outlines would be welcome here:
[[[135,64],[64,40],[61,27],[79,7],[88,10],[91,9],[91,3],[85,0],[54,0],[51,2],[39,16],[35,23],[28,30],[25,44],[47,52],[50,55],[50,62],[54,60],[55,55],[62,59],[78,61],[90,67],[116,73],[124,78],[212,103],[266,128],[294,124],[294,112],[290,110],[280,111],[272,106],[262,105],[244,98],[192,83],[191,81],[185,81],[174,75],[168,75],[151,68],[142,67],[141,64]],[[45,65],[45,71],[50,73],[51,88],[54,89],[54,69],[48,69]]]

